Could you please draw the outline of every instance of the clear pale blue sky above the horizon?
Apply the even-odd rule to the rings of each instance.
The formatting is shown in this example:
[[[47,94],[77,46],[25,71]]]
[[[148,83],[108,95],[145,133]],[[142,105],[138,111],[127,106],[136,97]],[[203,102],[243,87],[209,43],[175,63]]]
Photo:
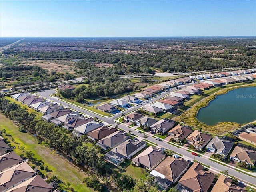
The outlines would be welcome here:
[[[256,0],[0,0],[0,36],[256,36]]]

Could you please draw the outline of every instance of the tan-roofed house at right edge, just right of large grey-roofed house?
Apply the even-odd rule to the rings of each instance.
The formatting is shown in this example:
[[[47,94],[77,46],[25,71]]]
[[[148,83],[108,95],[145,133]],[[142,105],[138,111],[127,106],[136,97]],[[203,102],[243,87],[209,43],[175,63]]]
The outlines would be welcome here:
[[[230,160],[239,163],[246,162],[246,164],[254,166],[256,162],[256,151],[236,146],[230,154]]]

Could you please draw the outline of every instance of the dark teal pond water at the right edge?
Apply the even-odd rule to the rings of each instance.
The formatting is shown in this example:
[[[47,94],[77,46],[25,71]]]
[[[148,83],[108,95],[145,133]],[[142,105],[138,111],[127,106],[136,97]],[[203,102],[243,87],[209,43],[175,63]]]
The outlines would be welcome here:
[[[256,87],[238,88],[218,95],[199,110],[196,118],[208,125],[226,121],[240,124],[255,121]]]

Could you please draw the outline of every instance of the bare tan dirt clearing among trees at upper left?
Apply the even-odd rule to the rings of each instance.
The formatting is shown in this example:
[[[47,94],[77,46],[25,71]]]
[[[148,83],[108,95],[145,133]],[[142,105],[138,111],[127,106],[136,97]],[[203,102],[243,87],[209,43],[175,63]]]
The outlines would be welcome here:
[[[25,65],[33,65],[33,66],[39,66],[45,70],[54,70],[57,72],[69,72],[69,73],[75,73],[73,65],[75,64],[74,61],[70,60],[60,60],[60,61],[47,61],[47,60],[33,60],[33,61],[26,61]]]

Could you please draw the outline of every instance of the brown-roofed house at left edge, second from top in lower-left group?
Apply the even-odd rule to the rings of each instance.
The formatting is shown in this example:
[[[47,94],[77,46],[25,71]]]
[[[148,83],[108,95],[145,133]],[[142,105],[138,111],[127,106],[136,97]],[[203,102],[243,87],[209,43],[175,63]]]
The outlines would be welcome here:
[[[14,151],[3,154],[0,156],[0,172],[7,170],[15,165],[18,165],[23,162],[23,159],[20,158]]]

